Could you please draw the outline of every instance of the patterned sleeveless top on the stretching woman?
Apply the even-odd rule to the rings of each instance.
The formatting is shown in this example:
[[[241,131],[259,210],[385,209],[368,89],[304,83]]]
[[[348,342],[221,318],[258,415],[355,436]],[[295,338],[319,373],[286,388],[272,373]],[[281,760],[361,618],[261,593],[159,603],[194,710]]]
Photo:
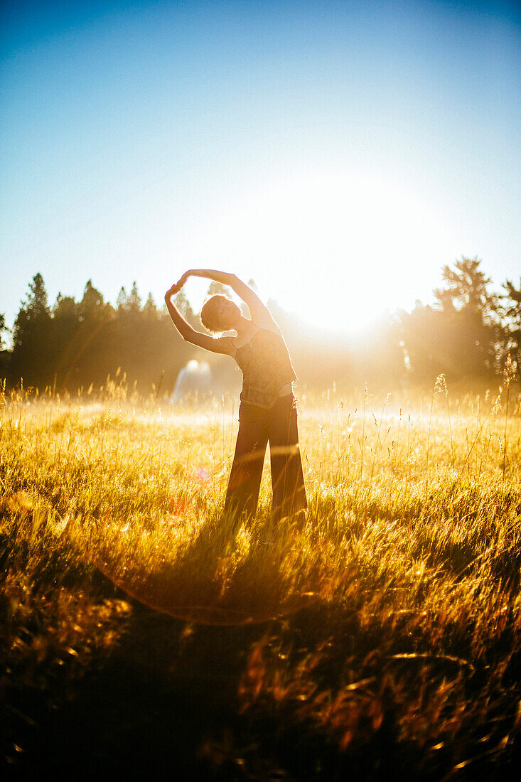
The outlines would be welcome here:
[[[235,349],[243,372],[241,402],[269,410],[282,386],[296,380],[286,343],[280,334],[259,328],[250,342]]]

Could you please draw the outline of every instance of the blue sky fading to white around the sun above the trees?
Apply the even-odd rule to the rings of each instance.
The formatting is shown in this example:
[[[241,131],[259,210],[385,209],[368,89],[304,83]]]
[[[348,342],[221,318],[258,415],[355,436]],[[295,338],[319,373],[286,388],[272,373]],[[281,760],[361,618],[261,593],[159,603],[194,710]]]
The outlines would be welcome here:
[[[517,2],[0,6],[0,314],[188,268],[356,331],[521,276]],[[199,307],[206,285],[189,282]]]

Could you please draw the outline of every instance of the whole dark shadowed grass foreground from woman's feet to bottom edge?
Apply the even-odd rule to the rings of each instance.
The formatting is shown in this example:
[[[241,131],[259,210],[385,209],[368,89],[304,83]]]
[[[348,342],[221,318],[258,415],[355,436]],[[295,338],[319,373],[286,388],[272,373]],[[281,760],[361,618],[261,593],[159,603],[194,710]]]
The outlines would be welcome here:
[[[59,779],[517,779],[510,772],[518,744],[512,742],[509,758],[500,760],[501,742],[511,730],[515,736],[517,719],[505,717],[500,688],[517,687],[519,657],[509,656],[508,668],[493,676],[496,661],[502,665],[508,649],[517,648],[512,638],[495,630],[483,665],[466,649],[471,625],[460,629],[447,620],[451,645],[444,654],[444,644],[434,647],[429,640],[436,623],[431,627],[409,611],[386,613],[370,604],[370,590],[378,587],[372,560],[346,567],[352,588],[342,601],[311,597],[302,608],[304,595],[296,595],[299,610],[283,618],[277,607],[289,594],[285,566],[299,555],[292,529],[282,529],[279,538],[263,526],[253,529],[250,547],[234,565],[227,536],[202,528],[183,557],[164,566],[159,581],[155,573],[156,581],[147,582],[146,572],[136,569],[138,585],[149,590],[142,597],[152,603],[156,595],[163,608],[168,601],[170,608],[183,606],[185,618],[131,599],[123,633],[107,622],[99,640],[85,647],[83,667],[70,684],[57,686],[66,665],[54,665],[45,680],[20,674],[20,697],[10,698],[5,687],[6,702],[18,710],[12,708],[9,719],[19,721],[9,742],[11,776],[47,771]],[[45,578],[55,583],[63,571],[71,590],[92,594],[89,616],[95,604],[126,597],[94,568],[83,572],[77,563],[67,570],[59,548],[49,565],[45,551],[42,538],[40,569],[33,568],[33,576],[41,584]],[[20,554],[17,560],[22,570],[26,559]],[[213,626],[185,621],[187,615],[195,618],[194,596],[215,609]],[[230,608],[250,623],[219,625],[217,616],[222,619]],[[68,608],[57,616],[56,635],[63,636],[65,620],[76,620]],[[516,627],[513,620],[505,620],[510,626]],[[20,630],[20,644],[31,640],[28,630]],[[77,659],[74,648],[65,641],[62,646]],[[70,664],[66,656],[58,662]],[[465,704],[474,710],[465,712]],[[30,718],[24,725],[23,714]]]

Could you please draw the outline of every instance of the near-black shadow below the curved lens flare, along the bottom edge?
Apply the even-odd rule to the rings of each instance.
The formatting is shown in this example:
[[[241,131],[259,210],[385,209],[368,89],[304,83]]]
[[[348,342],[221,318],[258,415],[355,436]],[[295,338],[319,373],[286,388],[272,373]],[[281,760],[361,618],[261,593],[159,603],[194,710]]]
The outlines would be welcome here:
[[[253,647],[271,633],[314,645],[319,628],[335,624],[320,606],[294,619],[291,630],[280,622],[196,626],[134,604],[106,665],[77,684],[73,699],[42,715],[30,752],[12,770],[17,778],[47,771],[58,779],[440,780],[437,764],[418,773],[422,749],[399,740],[392,710],[350,752],[290,712],[241,713],[238,691]],[[505,767],[496,772],[472,764],[450,778],[516,778]]]

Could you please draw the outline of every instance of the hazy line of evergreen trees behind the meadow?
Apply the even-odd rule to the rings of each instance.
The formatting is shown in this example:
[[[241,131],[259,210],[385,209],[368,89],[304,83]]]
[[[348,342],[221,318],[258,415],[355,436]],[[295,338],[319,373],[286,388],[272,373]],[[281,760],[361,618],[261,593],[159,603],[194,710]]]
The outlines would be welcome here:
[[[444,266],[441,278],[433,304],[417,301],[411,312],[383,318],[356,340],[311,330],[273,300],[268,307],[307,386],[426,386],[441,373],[449,382],[493,382],[508,355],[519,374],[521,278],[519,287],[507,279],[494,292],[481,261],[465,257]],[[212,283],[208,292],[220,290]],[[191,325],[203,328],[182,291],[175,303]],[[16,317],[12,350],[2,350],[5,331],[0,314],[0,378],[11,387],[76,393],[99,388],[119,371],[142,393],[152,387],[170,393],[187,361],[203,358],[178,335],[166,307],[156,307],[151,295],[142,303],[135,283],[129,293],[120,290],[115,307],[91,280],[80,301],[59,293],[50,306],[44,280],[35,274]],[[204,359],[221,388],[238,382],[229,357],[205,353]]]

